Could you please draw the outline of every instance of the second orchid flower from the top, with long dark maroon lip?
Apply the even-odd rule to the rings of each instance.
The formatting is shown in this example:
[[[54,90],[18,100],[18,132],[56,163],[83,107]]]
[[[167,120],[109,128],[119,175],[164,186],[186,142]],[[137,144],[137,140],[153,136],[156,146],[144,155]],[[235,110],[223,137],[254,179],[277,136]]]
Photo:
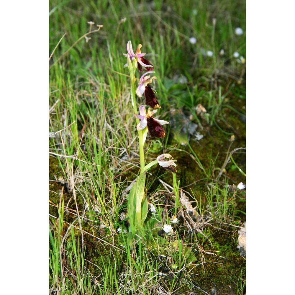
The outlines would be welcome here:
[[[147,106],[150,106],[153,109],[158,109],[158,108],[160,108],[160,105],[156,99],[156,96],[155,96],[155,93],[154,93],[152,87],[150,86],[150,83],[153,82],[153,79],[157,79],[157,78],[156,77],[150,78],[150,75],[145,76],[146,74],[149,74],[149,73],[155,73],[155,72],[148,71],[141,76],[139,86],[136,89],[136,94],[139,97],[142,97],[142,94],[144,93],[145,94],[145,104]]]

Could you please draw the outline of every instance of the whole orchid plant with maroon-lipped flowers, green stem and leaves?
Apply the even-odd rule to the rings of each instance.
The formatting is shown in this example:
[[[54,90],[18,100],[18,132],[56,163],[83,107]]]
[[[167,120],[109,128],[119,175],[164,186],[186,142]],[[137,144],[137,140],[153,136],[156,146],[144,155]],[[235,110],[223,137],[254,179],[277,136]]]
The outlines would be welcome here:
[[[153,117],[161,107],[155,96],[156,91],[150,86],[153,80],[156,79],[155,76],[151,77],[150,74],[155,73],[155,71],[153,71],[154,66],[143,57],[145,53],[141,52],[141,47],[142,45],[139,44],[134,53],[131,41],[128,41],[127,54],[123,53],[127,57],[127,63],[124,66],[130,71],[131,101],[137,124],[140,155],[140,175],[130,190],[127,204],[130,220],[129,230],[133,233],[133,237],[135,237],[136,232],[142,232],[143,222],[148,215],[148,200],[145,191],[145,179],[148,169],[153,165],[159,164],[166,170],[176,173],[176,160],[173,160],[170,154],[159,155],[156,160],[148,164],[145,163],[144,144],[147,134],[149,133],[151,137],[165,137],[166,133],[162,126],[164,124],[169,124],[169,122]],[[137,87],[135,77],[136,69],[140,72],[145,72],[141,76]],[[139,106],[139,112],[136,104],[136,95],[139,98],[142,98],[143,95],[145,96],[145,104]],[[148,109],[146,110],[147,107]]]

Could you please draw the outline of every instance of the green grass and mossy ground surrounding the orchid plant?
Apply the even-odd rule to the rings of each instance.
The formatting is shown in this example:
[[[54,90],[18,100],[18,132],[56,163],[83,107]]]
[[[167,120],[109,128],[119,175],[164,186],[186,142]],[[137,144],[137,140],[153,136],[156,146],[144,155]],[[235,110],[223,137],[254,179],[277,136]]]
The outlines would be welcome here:
[[[245,221],[245,63],[233,56],[246,58],[245,1],[51,0],[49,21],[50,294],[198,294],[213,283],[218,293],[226,276],[245,294],[232,244]],[[124,233],[140,168],[128,40],[156,65],[157,115],[170,122],[145,156],[177,159],[176,178],[147,173],[146,234],[134,240]]]

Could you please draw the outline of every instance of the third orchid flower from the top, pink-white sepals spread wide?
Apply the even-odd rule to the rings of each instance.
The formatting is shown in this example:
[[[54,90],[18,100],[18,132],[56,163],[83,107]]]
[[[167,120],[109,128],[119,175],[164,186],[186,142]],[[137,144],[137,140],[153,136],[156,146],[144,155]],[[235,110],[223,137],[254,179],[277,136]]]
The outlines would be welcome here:
[[[155,114],[155,112],[157,112],[158,110],[151,111],[149,108],[148,112],[146,112],[145,107],[145,105],[140,106],[140,115],[135,115],[138,119],[140,119],[139,124],[136,126],[137,130],[144,130],[145,127],[148,126],[148,132],[150,136],[158,138],[164,137],[166,134],[161,125],[169,124],[169,122],[153,118],[152,115]]]

